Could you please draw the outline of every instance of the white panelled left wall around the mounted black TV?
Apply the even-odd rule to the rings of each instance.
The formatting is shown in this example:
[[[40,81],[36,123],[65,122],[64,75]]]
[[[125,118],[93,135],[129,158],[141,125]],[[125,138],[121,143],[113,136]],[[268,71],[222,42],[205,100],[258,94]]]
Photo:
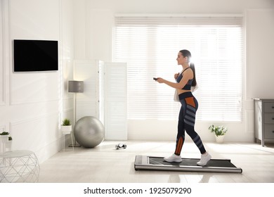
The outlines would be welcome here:
[[[62,147],[63,117],[73,117],[67,80],[72,78],[72,0],[1,0],[0,132],[13,149],[34,151],[40,163]],[[13,39],[58,40],[59,70],[13,72]]]

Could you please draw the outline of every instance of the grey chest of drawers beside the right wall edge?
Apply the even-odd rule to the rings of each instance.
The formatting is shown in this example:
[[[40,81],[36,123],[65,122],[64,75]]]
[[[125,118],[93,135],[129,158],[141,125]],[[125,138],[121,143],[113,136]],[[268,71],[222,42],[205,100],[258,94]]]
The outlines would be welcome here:
[[[274,99],[254,100],[255,139],[264,146],[265,141],[274,142]]]

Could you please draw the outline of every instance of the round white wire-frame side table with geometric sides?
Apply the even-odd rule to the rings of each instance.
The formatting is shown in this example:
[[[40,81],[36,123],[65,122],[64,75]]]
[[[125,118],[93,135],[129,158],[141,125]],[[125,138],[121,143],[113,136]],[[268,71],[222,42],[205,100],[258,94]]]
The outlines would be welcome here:
[[[8,151],[0,154],[1,183],[38,182],[39,172],[39,162],[32,151]]]

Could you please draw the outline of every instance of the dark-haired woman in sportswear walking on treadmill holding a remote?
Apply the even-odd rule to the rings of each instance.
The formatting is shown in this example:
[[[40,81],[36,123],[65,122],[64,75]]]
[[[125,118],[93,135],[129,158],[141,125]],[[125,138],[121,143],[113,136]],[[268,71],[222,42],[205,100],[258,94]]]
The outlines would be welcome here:
[[[179,113],[178,120],[178,134],[176,139],[176,149],[174,154],[170,157],[164,158],[167,162],[178,162],[182,161],[181,150],[185,141],[185,132],[193,139],[196,146],[199,148],[201,153],[201,160],[197,162],[197,165],[207,165],[211,159],[211,155],[207,153],[202,144],[200,136],[195,132],[195,115],[198,108],[198,102],[191,92],[191,87],[196,86],[195,68],[194,64],[190,63],[191,53],[188,50],[181,50],[178,53],[177,61],[178,65],[182,65],[183,70],[180,73],[176,73],[174,78],[177,83],[169,82],[160,77],[157,78],[157,82],[164,83],[178,89],[178,96],[181,102],[181,110]]]

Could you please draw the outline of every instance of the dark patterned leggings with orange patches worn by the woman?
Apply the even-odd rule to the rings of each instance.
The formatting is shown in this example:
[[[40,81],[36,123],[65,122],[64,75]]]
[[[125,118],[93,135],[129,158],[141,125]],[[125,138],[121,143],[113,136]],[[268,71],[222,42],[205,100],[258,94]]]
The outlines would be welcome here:
[[[183,143],[185,141],[185,132],[191,137],[191,139],[193,139],[194,143],[199,148],[200,153],[203,154],[206,150],[204,149],[200,136],[194,130],[198,102],[190,91],[179,94],[179,98],[182,106],[179,113],[175,154],[181,154]]]

